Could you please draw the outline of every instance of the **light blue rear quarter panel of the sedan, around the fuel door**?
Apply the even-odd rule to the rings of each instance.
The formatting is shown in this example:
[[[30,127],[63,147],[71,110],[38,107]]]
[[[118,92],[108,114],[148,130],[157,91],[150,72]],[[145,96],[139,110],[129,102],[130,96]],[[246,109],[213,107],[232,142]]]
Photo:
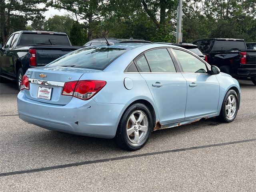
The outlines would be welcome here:
[[[128,90],[124,86],[124,79],[130,78],[133,81],[133,87]],[[136,100],[146,100],[153,106],[156,114],[156,122],[158,121],[158,112],[154,103],[154,99],[148,89],[145,80],[139,73],[124,73],[120,71],[102,71],[97,74],[84,74],[80,80],[94,79],[104,80],[107,82],[106,86],[100,90],[92,99],[97,103],[108,104],[125,104],[123,110],[120,112],[118,122],[126,108]],[[118,123],[117,122],[117,123]]]

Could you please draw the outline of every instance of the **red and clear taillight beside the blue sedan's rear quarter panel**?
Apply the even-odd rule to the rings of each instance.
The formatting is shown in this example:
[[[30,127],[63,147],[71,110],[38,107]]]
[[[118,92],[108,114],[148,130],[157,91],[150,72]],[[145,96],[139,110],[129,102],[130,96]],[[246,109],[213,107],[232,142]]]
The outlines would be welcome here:
[[[66,82],[63,87],[62,95],[74,96],[82,100],[88,100],[99,92],[106,83],[106,81],[100,80]]]

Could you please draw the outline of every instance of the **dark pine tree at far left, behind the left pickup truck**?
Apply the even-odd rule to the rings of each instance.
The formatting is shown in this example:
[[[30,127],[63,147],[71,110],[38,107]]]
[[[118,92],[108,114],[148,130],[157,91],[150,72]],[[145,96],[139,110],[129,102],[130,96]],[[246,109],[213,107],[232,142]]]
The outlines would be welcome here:
[[[42,17],[45,8],[38,8],[46,0],[0,0],[0,31],[4,44],[10,35],[10,30],[15,27],[16,20],[33,20],[35,16]],[[24,20],[22,20],[24,21]]]

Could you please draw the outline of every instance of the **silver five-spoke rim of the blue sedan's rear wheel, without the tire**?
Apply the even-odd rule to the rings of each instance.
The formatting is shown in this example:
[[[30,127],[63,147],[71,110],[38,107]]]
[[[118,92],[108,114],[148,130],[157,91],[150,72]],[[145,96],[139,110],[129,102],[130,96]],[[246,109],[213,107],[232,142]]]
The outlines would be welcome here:
[[[140,143],[146,137],[148,132],[148,118],[146,114],[137,110],[131,114],[126,123],[126,134],[130,142]]]

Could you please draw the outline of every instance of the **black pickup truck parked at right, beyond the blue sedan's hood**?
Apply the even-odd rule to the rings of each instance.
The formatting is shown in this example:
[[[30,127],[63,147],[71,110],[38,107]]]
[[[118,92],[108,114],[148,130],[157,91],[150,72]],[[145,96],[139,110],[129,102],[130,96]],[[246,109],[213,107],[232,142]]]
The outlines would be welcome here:
[[[234,78],[250,78],[256,85],[256,50],[249,50],[243,39],[210,38],[192,42],[206,55],[206,61]]]

